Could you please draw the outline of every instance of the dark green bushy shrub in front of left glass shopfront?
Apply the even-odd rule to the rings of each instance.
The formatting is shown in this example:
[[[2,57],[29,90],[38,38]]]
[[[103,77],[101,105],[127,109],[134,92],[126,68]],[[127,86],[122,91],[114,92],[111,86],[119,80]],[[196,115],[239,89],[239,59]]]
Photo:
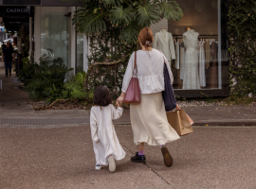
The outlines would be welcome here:
[[[64,76],[68,69],[62,59],[53,60],[53,63],[40,61],[24,63],[19,73],[19,79],[25,84],[24,90],[29,94],[31,100],[47,99],[48,103],[62,98],[64,91]]]

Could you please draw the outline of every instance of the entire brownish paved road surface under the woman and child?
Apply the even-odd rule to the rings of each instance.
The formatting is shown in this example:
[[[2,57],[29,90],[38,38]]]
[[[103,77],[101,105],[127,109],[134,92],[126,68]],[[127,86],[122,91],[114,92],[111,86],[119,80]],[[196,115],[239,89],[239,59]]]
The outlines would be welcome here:
[[[256,188],[256,128],[195,128],[168,145],[171,168],[159,146],[146,146],[146,164],[131,163],[132,129],[116,131],[127,155],[109,173],[94,170],[89,126],[0,129],[0,188]]]

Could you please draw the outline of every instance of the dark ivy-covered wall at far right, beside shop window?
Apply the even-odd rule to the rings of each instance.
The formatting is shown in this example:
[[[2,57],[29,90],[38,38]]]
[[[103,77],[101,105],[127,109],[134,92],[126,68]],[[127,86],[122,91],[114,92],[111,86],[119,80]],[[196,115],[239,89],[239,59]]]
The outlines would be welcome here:
[[[230,94],[256,94],[256,2],[229,0]]]

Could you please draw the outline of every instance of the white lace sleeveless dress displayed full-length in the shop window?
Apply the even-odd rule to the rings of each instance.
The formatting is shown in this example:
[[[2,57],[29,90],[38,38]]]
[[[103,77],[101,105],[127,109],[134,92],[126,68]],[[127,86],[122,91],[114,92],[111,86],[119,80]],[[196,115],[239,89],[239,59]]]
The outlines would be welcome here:
[[[183,34],[183,42],[186,47],[183,89],[200,89],[198,76],[198,43],[199,33],[193,29]]]

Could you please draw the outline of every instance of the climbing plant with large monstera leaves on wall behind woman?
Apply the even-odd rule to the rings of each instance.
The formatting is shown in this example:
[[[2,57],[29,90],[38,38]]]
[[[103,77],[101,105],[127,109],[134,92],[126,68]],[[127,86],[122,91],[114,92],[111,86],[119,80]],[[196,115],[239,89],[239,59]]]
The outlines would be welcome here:
[[[105,85],[112,95],[118,95],[127,62],[138,49],[139,30],[163,17],[179,20],[183,15],[179,5],[168,0],[82,0],[82,5],[72,21],[77,31],[88,37],[87,93]],[[114,61],[118,62],[108,65]]]

